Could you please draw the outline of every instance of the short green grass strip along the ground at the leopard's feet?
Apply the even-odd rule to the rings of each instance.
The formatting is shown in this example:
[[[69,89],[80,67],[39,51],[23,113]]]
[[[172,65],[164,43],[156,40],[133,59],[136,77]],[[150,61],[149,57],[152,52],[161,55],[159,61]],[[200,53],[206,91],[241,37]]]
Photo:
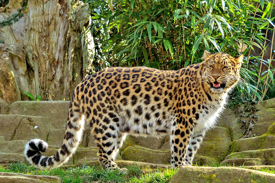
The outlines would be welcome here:
[[[195,165],[199,166],[199,165]],[[203,165],[206,167],[206,165]],[[234,164],[226,164],[227,167],[237,167]],[[211,164],[208,167],[221,167],[219,164]],[[245,166],[238,166],[245,168]],[[107,171],[97,166],[70,167],[67,169],[56,168],[51,170],[37,170],[27,163],[11,163],[7,167],[0,166],[0,172],[25,173],[29,175],[52,175],[58,176],[64,183],[86,183],[86,182],[112,182],[112,183],[168,183],[177,170],[158,169],[155,171],[143,171],[137,165],[125,167],[128,169],[127,174],[120,173],[118,170]],[[261,168],[258,171],[274,173],[272,168]]]

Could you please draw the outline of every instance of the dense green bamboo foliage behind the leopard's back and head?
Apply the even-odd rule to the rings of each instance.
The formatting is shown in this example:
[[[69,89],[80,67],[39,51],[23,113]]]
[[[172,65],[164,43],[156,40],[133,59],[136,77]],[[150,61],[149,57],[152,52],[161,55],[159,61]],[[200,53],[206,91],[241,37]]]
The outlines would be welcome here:
[[[274,84],[272,59],[263,60],[267,31],[275,27],[273,4],[258,0],[86,0],[93,23],[99,69],[148,66],[180,69],[201,62],[204,50],[245,55],[243,99],[263,99]],[[272,27],[272,28],[270,28]],[[87,29],[87,31],[88,31]],[[254,49],[260,56],[251,56]],[[263,67],[267,66],[264,72]],[[269,70],[268,70],[269,69]],[[266,88],[267,87],[267,88]],[[264,89],[265,88],[265,89]]]

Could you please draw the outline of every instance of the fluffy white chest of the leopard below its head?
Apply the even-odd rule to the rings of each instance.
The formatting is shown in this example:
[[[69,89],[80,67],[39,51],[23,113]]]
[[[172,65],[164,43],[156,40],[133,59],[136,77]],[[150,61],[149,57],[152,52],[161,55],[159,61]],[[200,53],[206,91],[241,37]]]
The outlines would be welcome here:
[[[199,110],[199,119],[195,120],[193,133],[207,131],[217,123],[219,115],[223,111],[225,100],[208,102]]]

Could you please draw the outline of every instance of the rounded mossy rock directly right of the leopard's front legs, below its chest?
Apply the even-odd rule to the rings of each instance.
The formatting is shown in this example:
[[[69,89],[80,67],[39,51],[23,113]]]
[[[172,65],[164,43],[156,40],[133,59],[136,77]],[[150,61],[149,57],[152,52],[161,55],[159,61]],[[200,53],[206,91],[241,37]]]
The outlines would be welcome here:
[[[197,155],[211,157],[221,162],[229,154],[230,144],[228,128],[215,127],[206,133]]]

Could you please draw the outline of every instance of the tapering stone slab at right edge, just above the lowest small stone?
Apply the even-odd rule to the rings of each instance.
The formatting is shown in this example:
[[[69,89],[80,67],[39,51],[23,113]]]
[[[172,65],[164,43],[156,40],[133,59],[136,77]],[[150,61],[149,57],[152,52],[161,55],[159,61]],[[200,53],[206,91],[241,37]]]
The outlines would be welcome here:
[[[275,164],[275,148],[259,149],[232,153],[225,157],[225,160],[236,158],[260,158],[263,165]]]

